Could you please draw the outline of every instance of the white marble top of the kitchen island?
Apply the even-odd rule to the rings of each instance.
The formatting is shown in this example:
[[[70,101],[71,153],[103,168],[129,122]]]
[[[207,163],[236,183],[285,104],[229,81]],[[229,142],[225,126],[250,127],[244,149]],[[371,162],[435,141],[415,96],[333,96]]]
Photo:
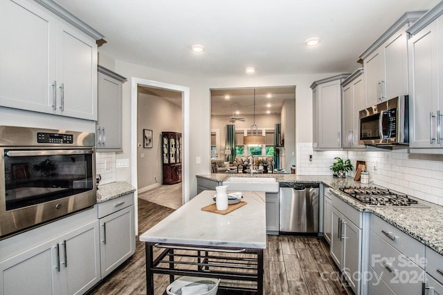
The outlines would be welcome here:
[[[248,204],[226,215],[202,211],[215,191],[203,191],[140,236],[142,242],[266,249],[265,193],[244,191]]]

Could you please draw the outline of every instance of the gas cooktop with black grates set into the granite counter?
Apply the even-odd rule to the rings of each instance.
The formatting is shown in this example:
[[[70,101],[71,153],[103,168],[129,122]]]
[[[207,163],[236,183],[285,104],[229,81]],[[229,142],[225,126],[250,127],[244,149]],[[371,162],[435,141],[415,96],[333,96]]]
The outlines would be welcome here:
[[[341,187],[340,190],[368,206],[428,208],[408,195],[381,187]]]

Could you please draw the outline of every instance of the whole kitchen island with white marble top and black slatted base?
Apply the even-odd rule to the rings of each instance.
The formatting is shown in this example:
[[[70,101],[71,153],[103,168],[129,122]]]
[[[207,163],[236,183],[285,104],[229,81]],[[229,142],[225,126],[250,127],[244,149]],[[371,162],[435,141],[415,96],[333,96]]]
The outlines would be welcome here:
[[[140,236],[145,242],[147,294],[154,274],[221,278],[226,294],[263,294],[265,193],[242,192],[246,205],[226,215],[202,211],[214,203],[204,191]]]

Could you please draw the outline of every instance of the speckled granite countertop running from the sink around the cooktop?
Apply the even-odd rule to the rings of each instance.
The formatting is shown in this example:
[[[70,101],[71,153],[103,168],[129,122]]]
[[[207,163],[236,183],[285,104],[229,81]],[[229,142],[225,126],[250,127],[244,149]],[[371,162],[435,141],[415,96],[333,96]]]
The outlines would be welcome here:
[[[251,177],[248,174],[221,174],[213,173],[197,175],[199,178],[206,178],[215,181],[224,181],[228,177]],[[443,255],[443,206],[419,200],[429,208],[401,208],[401,207],[370,207],[359,201],[346,196],[339,191],[339,187],[360,186],[360,182],[353,178],[334,178],[332,176],[317,175],[296,175],[296,174],[257,174],[253,177],[273,177],[278,182],[322,182],[328,187],[332,187],[335,196],[350,204],[354,209],[361,212],[372,213],[400,229],[405,234],[415,238],[422,244]],[[368,184],[366,184],[368,185]],[[373,184],[369,184],[373,185]]]

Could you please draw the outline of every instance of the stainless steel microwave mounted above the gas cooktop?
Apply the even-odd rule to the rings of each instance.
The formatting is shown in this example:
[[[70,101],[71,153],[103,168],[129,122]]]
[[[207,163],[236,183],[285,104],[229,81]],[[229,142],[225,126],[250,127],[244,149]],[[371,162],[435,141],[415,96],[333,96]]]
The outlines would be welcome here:
[[[359,112],[359,144],[391,147],[409,144],[408,95]]]

